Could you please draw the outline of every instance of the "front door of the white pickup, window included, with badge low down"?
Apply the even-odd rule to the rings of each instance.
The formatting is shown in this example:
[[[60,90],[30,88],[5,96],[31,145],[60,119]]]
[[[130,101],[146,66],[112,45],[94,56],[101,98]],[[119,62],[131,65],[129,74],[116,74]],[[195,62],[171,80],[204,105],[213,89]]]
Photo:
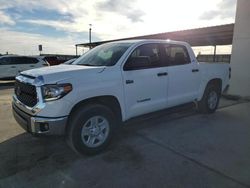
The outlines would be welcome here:
[[[166,69],[159,44],[143,44],[130,54],[122,72],[127,118],[166,107]]]

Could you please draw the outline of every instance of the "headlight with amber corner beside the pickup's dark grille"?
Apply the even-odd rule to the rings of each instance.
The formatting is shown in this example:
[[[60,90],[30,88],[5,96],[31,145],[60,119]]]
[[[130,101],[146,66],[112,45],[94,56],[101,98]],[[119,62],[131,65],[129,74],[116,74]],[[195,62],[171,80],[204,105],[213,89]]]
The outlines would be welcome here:
[[[42,86],[43,99],[53,101],[62,98],[72,91],[71,84],[55,84]]]

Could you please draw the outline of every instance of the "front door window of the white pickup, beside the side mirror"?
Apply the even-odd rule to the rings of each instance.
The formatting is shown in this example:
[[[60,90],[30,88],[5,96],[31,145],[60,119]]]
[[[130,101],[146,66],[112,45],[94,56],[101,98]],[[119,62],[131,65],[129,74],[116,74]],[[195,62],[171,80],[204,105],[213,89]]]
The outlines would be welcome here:
[[[124,70],[147,69],[160,66],[160,49],[158,44],[144,44],[132,52],[124,65]]]

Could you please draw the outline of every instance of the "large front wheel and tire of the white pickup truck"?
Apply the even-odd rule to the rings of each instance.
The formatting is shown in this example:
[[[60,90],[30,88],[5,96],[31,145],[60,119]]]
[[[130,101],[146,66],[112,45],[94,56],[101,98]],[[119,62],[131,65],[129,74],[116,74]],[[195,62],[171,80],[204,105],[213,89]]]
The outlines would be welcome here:
[[[113,112],[104,105],[80,107],[69,119],[66,141],[77,153],[97,154],[108,146],[115,124]]]

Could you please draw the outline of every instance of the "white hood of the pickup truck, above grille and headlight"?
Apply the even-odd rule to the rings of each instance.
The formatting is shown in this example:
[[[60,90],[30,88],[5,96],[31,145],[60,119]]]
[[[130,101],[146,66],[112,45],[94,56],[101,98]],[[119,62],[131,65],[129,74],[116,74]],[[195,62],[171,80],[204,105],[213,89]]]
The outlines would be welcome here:
[[[42,77],[45,83],[56,83],[81,75],[97,74],[105,67],[93,67],[82,65],[56,65],[23,71],[21,74],[28,77]]]

